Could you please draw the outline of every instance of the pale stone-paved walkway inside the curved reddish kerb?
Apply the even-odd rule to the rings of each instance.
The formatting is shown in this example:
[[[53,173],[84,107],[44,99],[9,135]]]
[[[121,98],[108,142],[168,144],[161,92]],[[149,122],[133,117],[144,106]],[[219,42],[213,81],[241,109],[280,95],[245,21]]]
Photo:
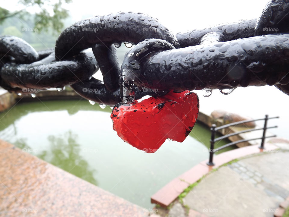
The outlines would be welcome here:
[[[175,201],[167,216],[272,217],[289,196],[289,144],[275,144],[280,149],[210,173],[183,198],[183,205]]]

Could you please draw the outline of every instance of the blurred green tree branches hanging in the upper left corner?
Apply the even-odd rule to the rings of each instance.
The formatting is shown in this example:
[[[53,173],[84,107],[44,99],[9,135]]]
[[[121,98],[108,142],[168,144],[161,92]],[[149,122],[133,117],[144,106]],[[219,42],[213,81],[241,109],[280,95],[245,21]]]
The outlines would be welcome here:
[[[37,32],[41,30],[47,31],[52,28],[54,33],[59,33],[63,28],[63,20],[68,17],[68,11],[62,8],[63,3],[70,3],[72,0],[58,0],[57,3],[51,4],[50,0],[19,0],[19,4],[23,5],[24,9],[19,11],[8,11],[0,7],[0,24],[2,24],[9,17],[17,17],[25,21],[26,11],[29,7],[36,7],[39,12],[34,16],[34,28]],[[51,11],[49,13],[48,11]],[[53,13],[52,13],[53,11]]]

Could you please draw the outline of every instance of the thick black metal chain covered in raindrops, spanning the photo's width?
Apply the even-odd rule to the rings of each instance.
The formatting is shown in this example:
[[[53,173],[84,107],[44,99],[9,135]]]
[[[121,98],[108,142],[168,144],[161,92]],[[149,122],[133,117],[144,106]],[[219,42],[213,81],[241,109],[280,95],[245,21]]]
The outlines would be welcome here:
[[[55,49],[40,52],[20,38],[0,36],[0,86],[33,93],[70,85],[105,105],[169,90],[228,94],[240,86],[275,85],[289,95],[286,2],[270,1],[258,20],[178,34],[142,13],[95,16],[65,29]],[[116,49],[122,42],[135,46],[120,64]],[[103,82],[92,77],[98,69]]]

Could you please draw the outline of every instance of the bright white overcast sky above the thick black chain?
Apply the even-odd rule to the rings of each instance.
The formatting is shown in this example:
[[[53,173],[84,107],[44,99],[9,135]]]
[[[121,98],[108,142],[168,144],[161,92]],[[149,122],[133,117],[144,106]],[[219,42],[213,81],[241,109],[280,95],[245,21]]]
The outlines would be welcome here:
[[[55,0],[52,0],[53,2]],[[18,0],[0,0],[1,7],[17,10]],[[207,1],[92,1],[73,0],[65,5],[74,22],[93,15],[106,15],[118,11],[135,11],[156,17],[174,33],[209,27],[214,24],[258,18],[269,0],[207,0]],[[30,12],[35,12],[30,8]],[[184,21],[180,21],[184,20]]]

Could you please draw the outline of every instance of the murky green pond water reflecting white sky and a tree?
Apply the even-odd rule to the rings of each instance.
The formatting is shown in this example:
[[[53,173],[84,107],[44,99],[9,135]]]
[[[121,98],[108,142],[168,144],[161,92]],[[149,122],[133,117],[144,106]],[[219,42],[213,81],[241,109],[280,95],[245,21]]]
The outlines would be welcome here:
[[[117,136],[109,107],[36,100],[0,114],[0,138],[139,206],[152,208],[157,190],[208,159],[210,131],[204,125],[196,124],[184,142],[167,140],[148,154]]]

